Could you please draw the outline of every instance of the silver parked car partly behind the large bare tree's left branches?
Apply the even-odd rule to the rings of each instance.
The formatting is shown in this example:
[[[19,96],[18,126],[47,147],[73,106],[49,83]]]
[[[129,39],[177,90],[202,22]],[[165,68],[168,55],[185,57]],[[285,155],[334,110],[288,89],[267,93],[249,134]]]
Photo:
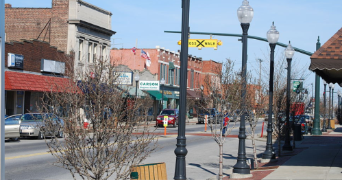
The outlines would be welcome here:
[[[51,123],[51,126],[49,126]],[[64,122],[51,113],[26,113],[21,116],[21,137],[43,139],[44,136],[63,137]]]

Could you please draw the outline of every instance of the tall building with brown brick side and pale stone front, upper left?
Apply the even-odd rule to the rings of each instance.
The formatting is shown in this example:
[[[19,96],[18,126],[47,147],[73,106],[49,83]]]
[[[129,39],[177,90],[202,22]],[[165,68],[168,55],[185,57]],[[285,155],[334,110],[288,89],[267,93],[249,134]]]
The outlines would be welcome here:
[[[5,4],[6,41],[38,39],[75,52],[75,65],[86,68],[108,58],[112,13],[81,0],[52,0],[51,8],[12,8]]]

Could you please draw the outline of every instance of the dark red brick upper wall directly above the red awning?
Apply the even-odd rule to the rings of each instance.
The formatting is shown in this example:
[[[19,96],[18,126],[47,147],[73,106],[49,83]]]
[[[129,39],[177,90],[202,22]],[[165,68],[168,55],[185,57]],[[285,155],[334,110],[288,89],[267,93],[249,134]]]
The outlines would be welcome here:
[[[60,62],[66,62],[66,59],[71,58],[71,56],[58,51],[55,47],[51,47],[49,43],[36,40],[5,43],[5,67],[8,67],[8,53],[23,55],[23,70],[38,73],[40,73],[40,62],[42,58]]]

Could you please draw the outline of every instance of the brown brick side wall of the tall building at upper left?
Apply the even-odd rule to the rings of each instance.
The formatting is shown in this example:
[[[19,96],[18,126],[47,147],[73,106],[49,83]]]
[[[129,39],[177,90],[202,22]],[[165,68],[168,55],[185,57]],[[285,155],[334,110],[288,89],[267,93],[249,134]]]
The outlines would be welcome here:
[[[52,0],[52,8],[10,8],[9,4],[5,7],[6,41],[38,38],[51,19],[51,45],[66,51],[69,0]],[[46,30],[40,35],[40,41]],[[44,41],[49,42],[49,39]]]

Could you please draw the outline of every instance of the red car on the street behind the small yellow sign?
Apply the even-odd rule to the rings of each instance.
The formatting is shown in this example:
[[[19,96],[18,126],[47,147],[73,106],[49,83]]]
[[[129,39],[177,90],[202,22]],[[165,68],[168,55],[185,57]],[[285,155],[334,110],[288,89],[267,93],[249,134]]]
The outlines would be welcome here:
[[[172,125],[173,127],[178,125],[178,121],[179,121],[179,111],[178,109],[163,109],[160,114],[157,116],[156,119],[156,126],[164,126],[164,116],[167,116],[168,121],[167,124],[168,125]]]

